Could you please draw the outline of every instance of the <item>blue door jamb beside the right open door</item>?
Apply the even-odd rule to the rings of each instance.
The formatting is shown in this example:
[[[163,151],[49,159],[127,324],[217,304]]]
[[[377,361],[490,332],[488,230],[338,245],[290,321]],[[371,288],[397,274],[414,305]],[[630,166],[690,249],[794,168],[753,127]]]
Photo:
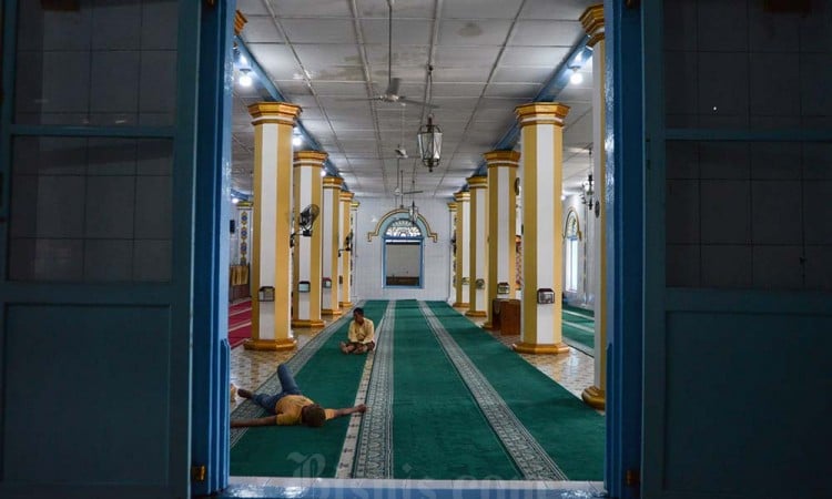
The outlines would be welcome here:
[[[610,497],[637,498],[625,485],[641,467],[643,332],[643,82],[641,12],[605,0],[607,33],[607,460]],[[627,165],[625,169],[623,165]],[[626,263],[626,264],[625,264]]]

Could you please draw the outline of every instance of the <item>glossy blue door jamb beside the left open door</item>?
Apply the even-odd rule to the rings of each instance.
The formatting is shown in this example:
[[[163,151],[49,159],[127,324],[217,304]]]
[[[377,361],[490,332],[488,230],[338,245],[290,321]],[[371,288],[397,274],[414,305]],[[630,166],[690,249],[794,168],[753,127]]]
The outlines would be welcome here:
[[[193,465],[204,481],[192,495],[206,496],[229,481],[229,197],[232,114],[232,34],[235,0],[203,3],[200,35],[194,213]]]

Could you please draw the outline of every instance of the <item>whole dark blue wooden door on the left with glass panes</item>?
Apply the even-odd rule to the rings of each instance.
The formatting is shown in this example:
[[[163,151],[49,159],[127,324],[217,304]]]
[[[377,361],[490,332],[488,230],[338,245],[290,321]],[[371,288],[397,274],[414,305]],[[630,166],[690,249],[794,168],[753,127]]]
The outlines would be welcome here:
[[[201,2],[3,2],[0,496],[187,497]]]

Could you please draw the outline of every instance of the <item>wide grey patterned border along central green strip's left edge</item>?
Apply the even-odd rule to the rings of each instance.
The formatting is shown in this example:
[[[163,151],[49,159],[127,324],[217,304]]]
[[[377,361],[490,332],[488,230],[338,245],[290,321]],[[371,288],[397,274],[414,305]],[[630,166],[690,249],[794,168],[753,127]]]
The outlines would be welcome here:
[[[353,478],[393,477],[393,342],[396,330],[395,302],[387,305],[378,334],[373,374],[367,387],[369,409],[362,418],[355,448]]]

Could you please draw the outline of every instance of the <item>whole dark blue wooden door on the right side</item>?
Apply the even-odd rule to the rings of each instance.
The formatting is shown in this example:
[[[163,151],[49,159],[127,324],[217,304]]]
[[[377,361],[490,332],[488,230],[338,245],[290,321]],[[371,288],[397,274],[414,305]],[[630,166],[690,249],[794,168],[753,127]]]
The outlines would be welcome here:
[[[830,497],[832,2],[642,6],[643,497]]]

